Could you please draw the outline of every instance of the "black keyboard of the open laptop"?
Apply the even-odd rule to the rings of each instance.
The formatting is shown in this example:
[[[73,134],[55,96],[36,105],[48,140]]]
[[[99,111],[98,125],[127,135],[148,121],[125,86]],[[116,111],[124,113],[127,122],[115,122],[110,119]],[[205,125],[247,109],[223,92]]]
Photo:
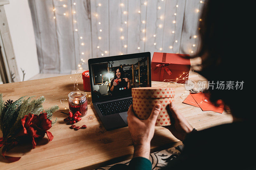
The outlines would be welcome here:
[[[132,104],[132,98],[117,100],[117,101],[108,102],[108,103],[100,103],[96,105],[100,109],[100,113],[102,114],[102,116],[107,116],[107,115],[112,115],[116,113],[126,112],[128,111],[131,104]]]

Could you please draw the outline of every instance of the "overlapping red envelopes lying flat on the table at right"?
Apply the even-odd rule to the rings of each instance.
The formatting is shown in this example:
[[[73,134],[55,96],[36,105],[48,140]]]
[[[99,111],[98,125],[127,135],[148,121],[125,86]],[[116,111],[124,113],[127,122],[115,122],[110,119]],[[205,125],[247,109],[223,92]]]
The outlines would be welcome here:
[[[220,104],[220,107],[215,106],[214,103],[210,102],[209,95],[204,93],[189,94],[183,103],[200,107],[203,111],[214,111],[217,113],[223,113],[224,111],[223,103]]]

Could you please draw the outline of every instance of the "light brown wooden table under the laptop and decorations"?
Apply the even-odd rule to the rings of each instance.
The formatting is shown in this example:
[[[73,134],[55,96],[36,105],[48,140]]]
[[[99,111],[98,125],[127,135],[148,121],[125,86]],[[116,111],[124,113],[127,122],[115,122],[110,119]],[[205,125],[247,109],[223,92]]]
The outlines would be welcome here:
[[[189,78],[196,80],[198,76],[191,74]],[[163,82],[152,82],[152,86],[161,85]],[[184,99],[180,95],[186,90],[180,85],[172,86],[175,87],[175,104],[178,110],[197,130],[232,122],[232,116],[226,112],[220,114],[202,111],[200,108],[182,103]],[[132,158],[133,146],[128,127],[106,131],[92,104],[88,106],[87,115],[76,124],[78,126],[86,124],[87,129],[74,131],[69,129],[70,125],[63,122],[67,115],[60,112],[67,112],[67,110],[61,105],[60,99],[67,98],[73,88],[70,76],[0,85],[4,100],[17,100],[26,95],[37,98],[43,95],[46,98],[43,104],[45,108],[54,104],[60,106],[60,110],[55,112],[52,118],[55,120],[57,117],[57,122],[49,130],[54,136],[53,140],[48,142],[45,137],[45,140],[41,140],[35,149],[31,149],[31,145],[16,146],[7,155],[22,156],[21,159],[17,162],[6,163],[0,156],[1,169],[93,169]],[[82,78],[78,82],[78,88],[83,89]],[[184,96],[188,96],[188,92]],[[91,102],[91,98],[88,101]],[[182,143],[170,131],[157,126],[151,142],[151,152],[180,144]]]

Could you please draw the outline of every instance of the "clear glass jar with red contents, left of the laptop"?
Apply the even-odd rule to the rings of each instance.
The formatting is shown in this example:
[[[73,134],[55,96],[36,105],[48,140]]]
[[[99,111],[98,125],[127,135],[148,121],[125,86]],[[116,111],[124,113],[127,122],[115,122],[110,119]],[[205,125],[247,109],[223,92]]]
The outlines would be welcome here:
[[[73,114],[79,111],[82,114],[80,117],[85,116],[87,114],[86,93],[83,91],[73,91],[68,94],[68,97],[69,111]]]

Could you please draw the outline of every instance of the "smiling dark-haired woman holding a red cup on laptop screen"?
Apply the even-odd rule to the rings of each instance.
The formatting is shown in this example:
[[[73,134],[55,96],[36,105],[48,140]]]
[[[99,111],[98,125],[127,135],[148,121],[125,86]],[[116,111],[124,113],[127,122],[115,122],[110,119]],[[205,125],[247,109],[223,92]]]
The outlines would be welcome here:
[[[110,92],[113,96],[125,96],[130,94],[131,83],[128,78],[124,77],[124,70],[118,67],[115,76],[110,83]]]

